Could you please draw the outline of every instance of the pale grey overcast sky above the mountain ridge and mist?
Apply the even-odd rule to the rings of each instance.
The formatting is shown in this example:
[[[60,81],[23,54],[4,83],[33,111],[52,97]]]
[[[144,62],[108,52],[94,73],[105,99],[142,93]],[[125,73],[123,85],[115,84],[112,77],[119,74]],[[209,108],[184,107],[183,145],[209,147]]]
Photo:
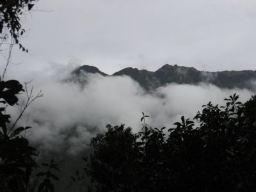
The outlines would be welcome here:
[[[166,63],[256,69],[254,0],[40,0],[35,10],[23,19],[29,54],[13,51],[13,62],[22,65],[10,71],[28,74],[67,63],[108,74]]]

